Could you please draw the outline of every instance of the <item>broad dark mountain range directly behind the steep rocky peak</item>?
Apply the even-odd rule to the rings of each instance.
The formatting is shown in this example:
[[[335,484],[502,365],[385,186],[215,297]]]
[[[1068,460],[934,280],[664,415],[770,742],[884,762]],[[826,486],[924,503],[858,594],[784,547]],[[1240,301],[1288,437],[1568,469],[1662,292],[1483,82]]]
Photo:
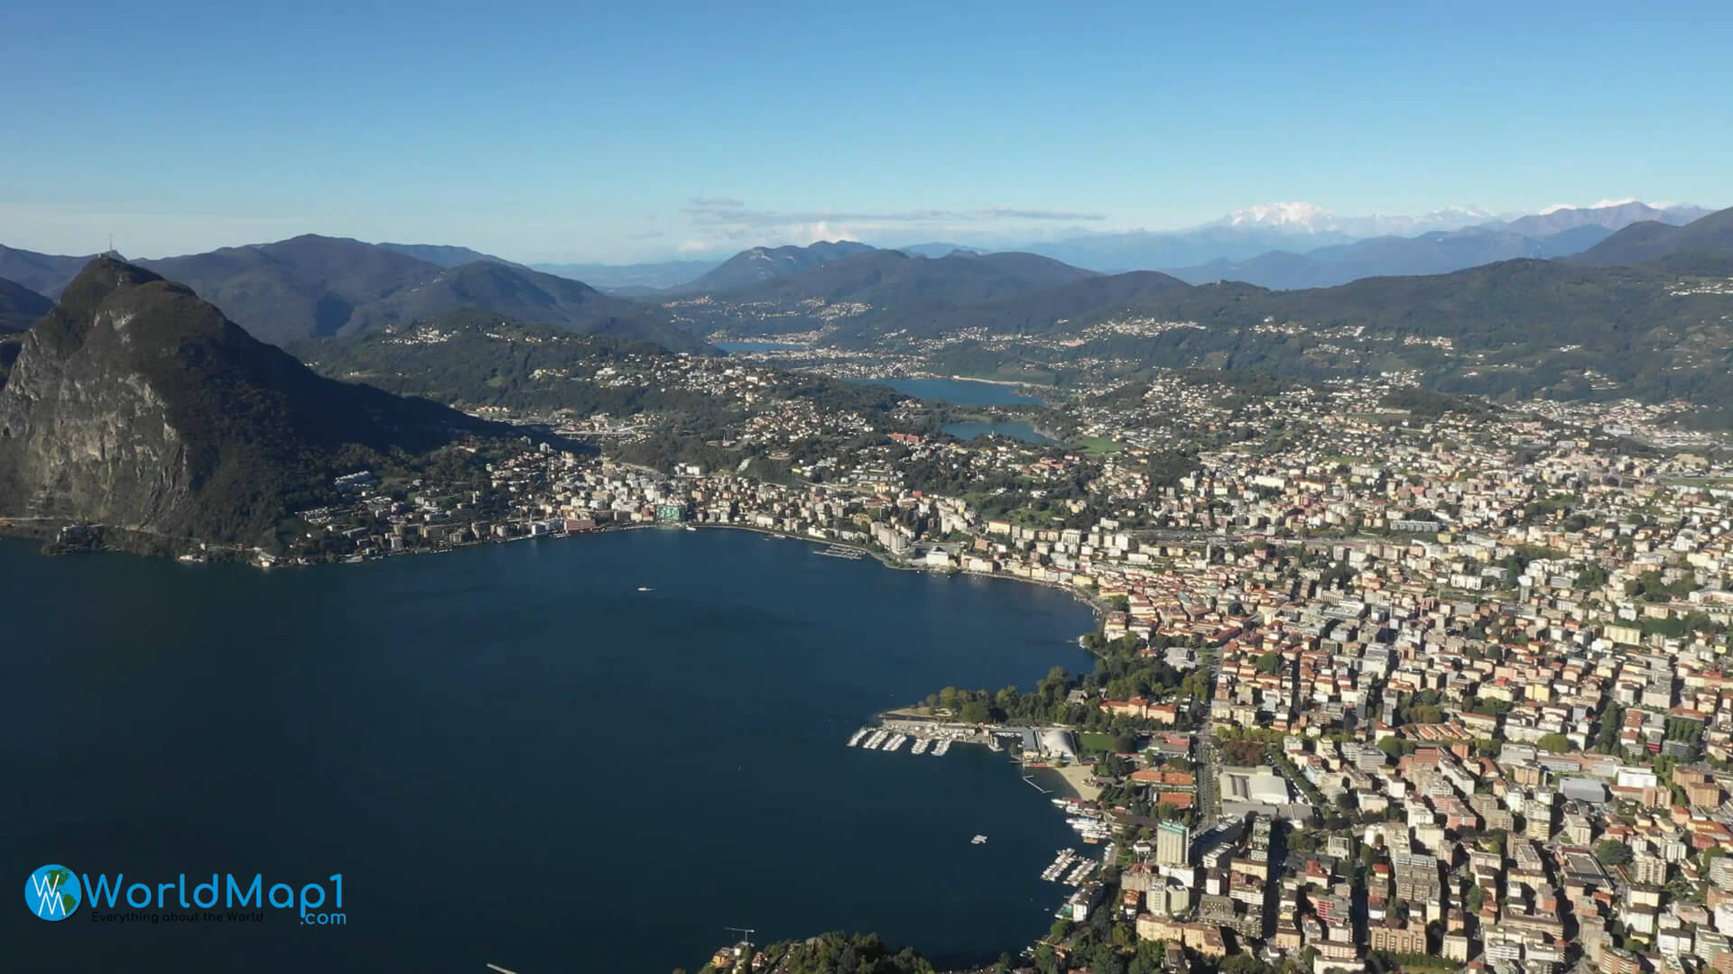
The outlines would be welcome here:
[[[464,262],[468,256],[475,260]],[[55,296],[85,262],[0,248],[0,277],[10,270],[17,277],[9,279]],[[579,281],[466,248],[307,234],[135,265],[185,282],[250,334],[274,343],[352,334],[477,307],[568,331],[657,341],[676,352],[707,350],[669,328],[667,315],[653,305],[601,295]]]

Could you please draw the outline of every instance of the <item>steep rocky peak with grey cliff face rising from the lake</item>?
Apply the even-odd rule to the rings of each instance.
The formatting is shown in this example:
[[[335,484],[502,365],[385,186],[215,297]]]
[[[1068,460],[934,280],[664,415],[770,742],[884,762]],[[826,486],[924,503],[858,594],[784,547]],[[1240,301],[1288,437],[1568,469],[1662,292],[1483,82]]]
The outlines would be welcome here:
[[[334,475],[490,430],[321,378],[191,288],[97,258],[0,386],[0,515],[276,548]]]

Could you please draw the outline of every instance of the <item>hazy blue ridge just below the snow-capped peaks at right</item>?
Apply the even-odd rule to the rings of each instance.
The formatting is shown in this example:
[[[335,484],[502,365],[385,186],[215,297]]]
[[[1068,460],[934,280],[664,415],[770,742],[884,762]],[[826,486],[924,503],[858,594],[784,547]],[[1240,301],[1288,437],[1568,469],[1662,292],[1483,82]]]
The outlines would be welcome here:
[[[1371,237],[1310,250],[1303,255],[1272,251],[1251,260],[1217,260],[1201,267],[1180,267],[1170,274],[1192,284],[1244,281],[1275,289],[1329,288],[1360,277],[1447,274],[1518,256],[1565,256],[1594,244],[1608,232],[1605,227],[1589,224],[1535,239],[1511,231],[1470,227],[1435,231],[1418,237]]]

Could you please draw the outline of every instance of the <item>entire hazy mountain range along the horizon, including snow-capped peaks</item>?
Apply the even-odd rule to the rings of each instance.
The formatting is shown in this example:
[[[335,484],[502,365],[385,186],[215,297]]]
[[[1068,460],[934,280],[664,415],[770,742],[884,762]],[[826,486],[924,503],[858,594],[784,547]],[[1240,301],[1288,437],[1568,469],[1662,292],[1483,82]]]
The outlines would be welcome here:
[[[1369,224],[1341,220],[1310,205],[1272,205],[1194,231],[1092,234],[1042,244],[1042,253],[981,255],[946,243],[894,251],[853,241],[750,248],[719,265],[643,265],[660,267],[664,276],[659,279],[664,281],[676,276],[676,267],[683,272],[704,270],[676,288],[624,286],[624,293],[615,295],[470,248],[369,244],[322,236],[139,260],[137,265],[187,282],[250,333],[277,343],[354,334],[451,310],[480,308],[577,333],[655,341],[676,352],[705,352],[709,348],[698,334],[711,328],[750,324],[750,315],[742,317],[735,310],[743,303],[782,308],[773,322],[776,328],[821,326],[839,315],[865,314],[860,307],[839,305],[866,305],[875,314],[969,307],[1085,281],[1099,274],[1092,267],[1111,267],[1114,255],[1133,251],[1161,258],[1199,248],[1236,251],[1267,241],[1305,241],[1308,246],[1303,250],[1265,248],[1194,265],[1158,263],[1170,267],[1170,277],[1192,284],[1243,281],[1274,289],[1305,289],[1367,277],[1447,274],[1515,258],[1580,253],[1582,263],[1612,265],[1655,260],[1674,251],[1716,250],[1709,231],[1679,225],[1695,211],[1622,201],[1549,208],[1418,236],[1353,239],[1348,229]],[[1483,213],[1451,210],[1419,220],[1452,224],[1478,217]],[[1054,256],[1055,250],[1085,251],[1085,256],[1099,260],[1066,262]],[[0,295],[0,329],[24,328],[42,314],[42,298],[57,296],[87,260],[0,246],[0,279],[14,284]],[[613,270],[639,274],[631,267]],[[38,298],[29,298],[31,291]],[[672,300],[697,295],[726,300],[709,307]],[[811,307],[801,307],[809,300],[830,310],[815,315]]]

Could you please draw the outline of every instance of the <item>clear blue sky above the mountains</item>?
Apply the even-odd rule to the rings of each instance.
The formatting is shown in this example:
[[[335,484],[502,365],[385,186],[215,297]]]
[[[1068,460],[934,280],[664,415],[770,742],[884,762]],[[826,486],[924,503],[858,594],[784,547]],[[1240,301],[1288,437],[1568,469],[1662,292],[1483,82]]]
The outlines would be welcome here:
[[[633,262],[1733,196],[1724,2],[250,7],[0,0],[0,243]]]

